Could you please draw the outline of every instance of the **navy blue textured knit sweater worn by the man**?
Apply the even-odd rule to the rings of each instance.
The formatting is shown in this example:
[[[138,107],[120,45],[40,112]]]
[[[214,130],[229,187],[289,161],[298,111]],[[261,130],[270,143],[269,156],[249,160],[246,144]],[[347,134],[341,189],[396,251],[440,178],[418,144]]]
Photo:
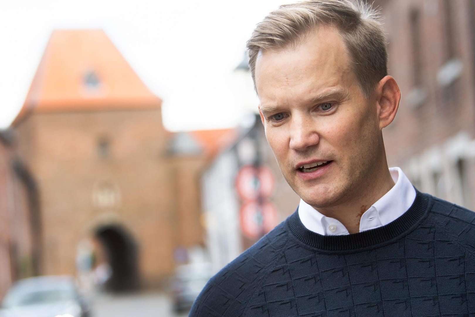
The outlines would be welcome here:
[[[386,226],[345,236],[297,212],[218,272],[190,317],[475,317],[475,213],[417,192]]]

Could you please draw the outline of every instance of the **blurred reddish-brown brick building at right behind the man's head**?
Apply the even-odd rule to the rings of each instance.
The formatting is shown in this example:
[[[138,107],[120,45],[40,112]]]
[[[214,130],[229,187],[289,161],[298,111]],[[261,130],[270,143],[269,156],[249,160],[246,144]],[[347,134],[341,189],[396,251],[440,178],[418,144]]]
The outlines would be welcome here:
[[[380,0],[402,99],[384,130],[390,165],[415,186],[475,207],[475,1]]]

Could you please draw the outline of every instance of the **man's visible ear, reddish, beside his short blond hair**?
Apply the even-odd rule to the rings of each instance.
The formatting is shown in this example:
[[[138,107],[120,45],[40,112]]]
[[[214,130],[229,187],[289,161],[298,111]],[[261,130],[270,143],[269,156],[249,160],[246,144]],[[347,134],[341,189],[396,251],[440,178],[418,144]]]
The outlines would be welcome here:
[[[391,76],[383,77],[376,88],[380,130],[390,125],[398,112],[401,91]]]

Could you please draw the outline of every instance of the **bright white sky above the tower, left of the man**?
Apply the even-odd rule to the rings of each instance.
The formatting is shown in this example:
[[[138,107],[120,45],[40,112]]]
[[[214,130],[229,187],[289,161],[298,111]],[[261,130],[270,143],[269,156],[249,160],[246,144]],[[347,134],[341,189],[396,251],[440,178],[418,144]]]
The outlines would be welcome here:
[[[285,0],[0,0],[0,128],[18,113],[53,29],[101,28],[163,99],[172,131],[236,125],[234,68],[254,26]],[[287,1],[289,2],[289,1]],[[254,98],[254,97],[253,97]]]

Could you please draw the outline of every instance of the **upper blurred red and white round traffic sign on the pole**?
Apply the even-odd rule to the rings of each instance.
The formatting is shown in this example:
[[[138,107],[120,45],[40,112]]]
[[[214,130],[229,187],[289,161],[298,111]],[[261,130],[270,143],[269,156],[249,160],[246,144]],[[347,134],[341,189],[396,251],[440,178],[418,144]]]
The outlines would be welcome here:
[[[244,201],[270,197],[274,192],[274,175],[267,166],[243,166],[236,176],[236,189]]]

